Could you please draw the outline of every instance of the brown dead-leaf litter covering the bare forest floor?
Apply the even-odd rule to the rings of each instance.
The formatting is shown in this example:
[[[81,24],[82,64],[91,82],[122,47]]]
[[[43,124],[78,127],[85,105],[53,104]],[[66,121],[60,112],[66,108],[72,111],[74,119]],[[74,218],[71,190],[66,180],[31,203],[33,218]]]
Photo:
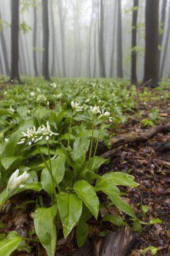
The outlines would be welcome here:
[[[148,116],[148,110],[159,108],[159,115],[161,121],[159,124],[166,125],[170,120],[170,104],[168,102],[151,102],[144,104],[138,102],[138,109],[142,109],[143,118]],[[136,120],[129,119],[129,121],[120,125],[119,129],[115,131],[118,135],[124,133],[143,133],[151,127],[142,127],[141,123]],[[113,132],[113,131],[112,131]],[[99,174],[108,171],[122,171],[128,172],[135,177],[135,181],[139,183],[137,188],[123,188],[120,190],[125,193],[124,201],[127,201],[134,213],[143,222],[149,222],[152,218],[162,220],[162,223],[142,225],[142,234],[138,237],[138,241],[131,249],[128,256],[140,256],[141,251],[146,247],[157,247],[159,251],[155,255],[168,256],[170,255],[170,148],[165,152],[160,152],[159,148],[170,141],[170,134],[158,133],[147,142],[129,143],[125,146],[120,146],[113,151],[110,156],[110,163],[101,166]],[[102,196],[102,195],[101,195]],[[15,195],[10,199],[10,205],[15,206],[14,210],[10,210],[7,214],[1,214],[1,222],[8,226],[8,229],[1,229],[1,232],[7,233],[9,230],[16,230],[19,234],[25,236],[26,230],[33,229],[32,206],[31,204],[22,204],[24,201],[34,200],[34,193],[22,193]],[[141,214],[141,205],[147,205],[148,212],[144,217]],[[116,207],[112,207],[112,214],[122,214],[118,212]],[[101,212],[102,215],[102,212]],[[102,217],[102,216],[101,216]],[[128,216],[127,216],[128,222]],[[92,219],[89,225],[89,238],[87,243],[81,249],[76,248],[75,230],[71,232],[67,241],[64,238],[58,238],[56,255],[58,256],[99,256],[100,249],[103,243],[103,237],[97,234],[103,230],[116,230],[113,224],[102,225],[99,220]],[[1,228],[1,227],[0,227]],[[34,253],[15,252],[15,256],[34,256],[36,254],[36,243],[32,243]],[[40,256],[45,256],[46,252],[41,247]],[[148,251],[145,255],[153,255]],[[111,255],[110,255],[111,256]],[[113,255],[119,256],[119,255]]]

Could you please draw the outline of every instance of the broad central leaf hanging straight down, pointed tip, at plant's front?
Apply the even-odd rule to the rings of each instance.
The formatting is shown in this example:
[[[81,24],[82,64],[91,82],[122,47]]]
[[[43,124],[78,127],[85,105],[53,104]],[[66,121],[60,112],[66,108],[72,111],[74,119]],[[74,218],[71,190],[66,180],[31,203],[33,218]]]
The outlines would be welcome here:
[[[76,194],[57,195],[58,212],[63,225],[63,233],[65,238],[71,230],[76,226],[82,213],[82,201]]]

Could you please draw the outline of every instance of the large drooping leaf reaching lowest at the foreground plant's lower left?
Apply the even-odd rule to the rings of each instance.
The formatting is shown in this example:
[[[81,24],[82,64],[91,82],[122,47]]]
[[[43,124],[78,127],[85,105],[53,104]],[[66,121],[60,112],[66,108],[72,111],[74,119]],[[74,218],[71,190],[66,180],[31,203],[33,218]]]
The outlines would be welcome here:
[[[38,208],[34,216],[36,234],[48,256],[54,256],[56,251],[56,226],[54,225],[56,213],[57,206],[52,205],[49,208]]]

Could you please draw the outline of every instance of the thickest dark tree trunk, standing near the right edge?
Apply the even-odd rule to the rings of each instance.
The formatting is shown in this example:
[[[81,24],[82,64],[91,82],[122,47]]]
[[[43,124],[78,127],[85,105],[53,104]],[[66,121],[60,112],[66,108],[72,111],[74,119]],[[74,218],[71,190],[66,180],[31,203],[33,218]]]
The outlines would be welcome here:
[[[159,37],[159,0],[146,0],[145,7],[145,54],[144,79],[148,87],[158,86],[158,37]]]

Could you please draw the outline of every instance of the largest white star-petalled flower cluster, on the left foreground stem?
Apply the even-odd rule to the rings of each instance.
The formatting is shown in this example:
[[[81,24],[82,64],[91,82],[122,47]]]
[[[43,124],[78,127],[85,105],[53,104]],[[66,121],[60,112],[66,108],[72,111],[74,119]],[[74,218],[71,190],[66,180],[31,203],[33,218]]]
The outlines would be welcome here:
[[[46,127],[42,125],[36,130],[36,127],[34,126],[33,129],[28,128],[26,133],[22,131],[22,134],[24,136],[17,144],[23,144],[24,142],[28,141],[28,145],[31,145],[38,142],[40,139],[44,139],[44,137],[46,140],[48,140],[52,135],[58,135],[58,133],[53,133],[51,131],[48,122],[46,123]]]

